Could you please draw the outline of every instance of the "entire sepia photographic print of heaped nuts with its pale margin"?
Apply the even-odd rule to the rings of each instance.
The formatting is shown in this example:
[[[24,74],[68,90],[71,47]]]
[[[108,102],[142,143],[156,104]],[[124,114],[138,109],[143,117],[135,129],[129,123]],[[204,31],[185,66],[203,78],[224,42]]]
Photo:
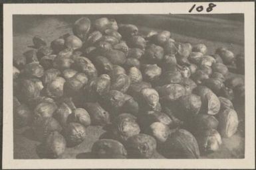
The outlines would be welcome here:
[[[245,13],[209,13],[218,4],[205,4],[183,13],[127,13],[129,6],[124,13],[9,15],[8,159],[112,166],[148,159],[164,168],[171,164],[161,162],[176,160],[253,159],[255,65],[247,37],[254,32]],[[207,12],[196,13],[199,7]]]

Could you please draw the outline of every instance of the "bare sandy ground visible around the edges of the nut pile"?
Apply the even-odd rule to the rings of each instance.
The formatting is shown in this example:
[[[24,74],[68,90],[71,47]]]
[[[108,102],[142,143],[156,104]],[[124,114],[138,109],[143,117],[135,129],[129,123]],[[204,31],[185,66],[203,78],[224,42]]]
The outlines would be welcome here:
[[[92,20],[100,16],[91,16]],[[155,30],[166,29],[172,32],[172,37],[177,42],[190,42],[191,44],[204,43],[208,47],[208,53],[213,54],[216,48],[225,46],[234,54],[243,52],[243,22],[225,21],[219,17],[184,17],[165,16],[110,16],[117,21],[134,23],[140,27],[144,34],[152,28]],[[37,17],[14,17],[13,23],[13,57],[23,55],[32,45],[32,38],[40,35],[50,43],[55,38],[70,32],[72,22],[79,16],[37,16]],[[227,17],[224,17],[227,18]],[[25,22],[26,21],[26,22]],[[239,130],[237,134],[228,139],[223,139],[221,149],[201,158],[242,158],[244,155],[244,114],[243,104],[235,103],[239,114]],[[100,126],[90,126],[86,129],[88,137],[82,144],[67,148],[61,158],[90,158],[92,144],[105,132]],[[14,130],[14,153],[15,159],[39,159],[39,145],[29,127]],[[163,158],[159,153],[153,158]]]

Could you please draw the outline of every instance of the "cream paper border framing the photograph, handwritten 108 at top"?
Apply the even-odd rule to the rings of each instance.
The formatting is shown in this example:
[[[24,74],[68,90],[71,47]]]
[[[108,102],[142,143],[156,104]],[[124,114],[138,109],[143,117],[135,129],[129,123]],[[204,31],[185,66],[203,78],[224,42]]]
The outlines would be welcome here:
[[[255,3],[213,2],[211,13],[245,17],[244,159],[13,159],[13,15],[195,14],[195,3],[61,3],[3,5],[3,169],[255,168]],[[207,6],[209,3],[196,3]],[[207,13],[202,11],[200,14]],[[208,13],[209,14],[209,13]]]

